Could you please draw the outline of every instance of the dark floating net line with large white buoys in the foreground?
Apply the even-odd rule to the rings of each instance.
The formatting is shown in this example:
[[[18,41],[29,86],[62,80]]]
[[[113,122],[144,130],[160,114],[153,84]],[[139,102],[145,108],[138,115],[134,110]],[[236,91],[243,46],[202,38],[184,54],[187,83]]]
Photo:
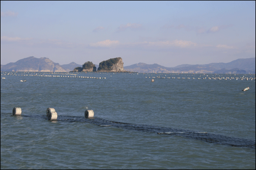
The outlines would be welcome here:
[[[22,109],[18,107],[14,107],[12,110],[13,116],[22,116]],[[84,112],[84,117],[81,116],[68,116],[68,115],[57,115],[57,112],[54,108],[47,108],[46,116],[27,116],[23,115],[24,117],[34,117],[34,118],[41,118],[44,117],[49,121],[61,121],[61,122],[84,122],[84,123],[91,123],[95,124],[100,127],[116,127],[116,128],[123,128],[128,130],[136,130],[136,131],[143,131],[143,132],[154,132],[161,135],[171,135],[171,136],[180,136],[186,137],[190,139],[197,139],[202,140],[209,143],[217,143],[217,144],[224,144],[229,145],[232,147],[246,147],[255,149],[255,141],[243,138],[235,138],[235,137],[228,137],[224,135],[218,134],[211,134],[208,132],[194,132],[189,130],[181,130],[181,129],[173,129],[173,128],[165,128],[159,126],[151,126],[151,125],[136,125],[136,124],[127,124],[121,122],[114,122],[110,120],[106,120],[103,118],[94,117],[93,110],[86,110]]]

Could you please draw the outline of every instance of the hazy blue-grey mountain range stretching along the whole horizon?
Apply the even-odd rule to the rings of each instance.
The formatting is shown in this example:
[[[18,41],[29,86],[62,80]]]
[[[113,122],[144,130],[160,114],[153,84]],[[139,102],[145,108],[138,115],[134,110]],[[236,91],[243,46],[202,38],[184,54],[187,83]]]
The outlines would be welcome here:
[[[108,61],[108,60],[106,60]],[[184,74],[255,74],[255,58],[237,59],[229,63],[209,63],[209,64],[182,64],[176,67],[164,67],[159,64],[137,63],[122,67],[119,65],[104,66],[96,72],[144,72],[144,73],[184,73]],[[114,66],[113,68],[111,68]],[[49,58],[28,57],[1,65],[1,71],[37,71],[37,72],[76,72],[75,67],[82,65],[72,62],[60,65],[54,63]],[[98,66],[99,67],[99,66]],[[113,69],[113,70],[111,70]],[[86,71],[85,71],[86,72]]]

